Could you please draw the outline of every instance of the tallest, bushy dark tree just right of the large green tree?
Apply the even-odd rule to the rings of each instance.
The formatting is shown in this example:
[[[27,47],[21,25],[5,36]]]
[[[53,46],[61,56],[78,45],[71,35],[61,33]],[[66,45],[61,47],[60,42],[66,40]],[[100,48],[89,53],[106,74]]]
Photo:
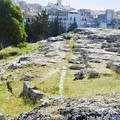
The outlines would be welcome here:
[[[37,40],[46,38],[49,32],[49,21],[46,11],[34,16],[31,24],[33,37]]]

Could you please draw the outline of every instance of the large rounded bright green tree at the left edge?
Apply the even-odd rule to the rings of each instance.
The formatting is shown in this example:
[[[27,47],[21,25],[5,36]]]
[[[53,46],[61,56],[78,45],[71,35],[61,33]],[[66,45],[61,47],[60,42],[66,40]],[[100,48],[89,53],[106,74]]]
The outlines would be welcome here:
[[[0,0],[0,43],[17,46],[26,40],[23,16],[18,6],[10,0]]]

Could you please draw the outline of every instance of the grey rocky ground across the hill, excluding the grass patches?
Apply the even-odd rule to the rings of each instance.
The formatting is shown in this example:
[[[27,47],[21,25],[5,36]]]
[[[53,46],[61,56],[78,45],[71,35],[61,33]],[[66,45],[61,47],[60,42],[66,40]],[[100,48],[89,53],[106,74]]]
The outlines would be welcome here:
[[[76,29],[51,37],[38,44],[32,50],[11,61],[0,64],[1,79],[6,80],[10,73],[25,66],[37,65],[52,67],[44,76],[27,71],[22,75],[23,93],[33,99],[46,94],[30,88],[29,79],[42,82],[54,73],[60,73],[59,95],[52,100],[43,100],[43,104],[32,111],[21,113],[16,120],[120,120],[120,91],[99,93],[93,98],[64,98],[64,78],[67,70],[72,70],[74,80],[100,78],[102,75],[120,74],[120,31],[112,29]],[[111,72],[113,71],[113,72]],[[15,75],[12,75],[12,81]],[[31,92],[32,91],[32,92]],[[113,91],[114,92],[114,91]]]

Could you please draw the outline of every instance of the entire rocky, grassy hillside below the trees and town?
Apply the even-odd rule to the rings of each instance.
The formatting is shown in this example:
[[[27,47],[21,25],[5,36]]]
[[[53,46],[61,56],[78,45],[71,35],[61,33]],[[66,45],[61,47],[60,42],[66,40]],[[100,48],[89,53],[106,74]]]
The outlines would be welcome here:
[[[7,119],[120,120],[119,30],[76,29],[19,54],[10,49],[0,52],[0,112]]]

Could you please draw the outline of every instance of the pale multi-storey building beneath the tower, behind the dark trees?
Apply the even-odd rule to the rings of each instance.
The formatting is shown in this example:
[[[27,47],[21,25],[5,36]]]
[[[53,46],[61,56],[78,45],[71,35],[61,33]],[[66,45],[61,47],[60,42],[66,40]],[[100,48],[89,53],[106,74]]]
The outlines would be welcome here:
[[[57,0],[57,3],[48,3],[45,7],[45,10],[48,14],[49,21],[54,21],[56,18],[59,19],[59,22],[63,24],[63,27],[67,30],[69,21],[68,16],[70,16],[69,11],[74,10],[70,6],[62,5],[61,0]]]

